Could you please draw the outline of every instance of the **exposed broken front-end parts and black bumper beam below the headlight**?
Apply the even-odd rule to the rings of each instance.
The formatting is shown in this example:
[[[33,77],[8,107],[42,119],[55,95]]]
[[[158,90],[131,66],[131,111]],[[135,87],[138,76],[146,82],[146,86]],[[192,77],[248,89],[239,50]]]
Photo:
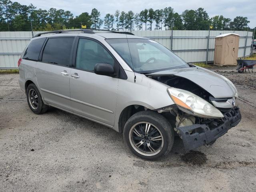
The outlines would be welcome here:
[[[238,107],[223,111],[223,118],[202,118],[181,111],[175,104],[158,109],[170,120],[174,131],[182,139],[186,151],[202,145],[212,145],[217,138],[226,134],[230,128],[236,126],[242,116]]]

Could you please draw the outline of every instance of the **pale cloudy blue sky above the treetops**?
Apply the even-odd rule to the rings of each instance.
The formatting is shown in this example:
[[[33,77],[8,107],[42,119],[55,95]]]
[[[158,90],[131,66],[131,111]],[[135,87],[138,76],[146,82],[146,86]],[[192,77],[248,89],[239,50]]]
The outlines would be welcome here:
[[[15,0],[13,0],[15,1]],[[107,13],[114,14],[118,10],[140,12],[145,8],[161,9],[168,6],[179,14],[186,9],[204,8],[210,17],[223,15],[233,20],[236,16],[244,16],[250,20],[249,26],[256,27],[256,0],[16,0],[20,4],[32,3],[37,8],[48,10],[57,8],[70,10],[74,16],[82,12],[91,12],[92,8],[100,11],[103,18]]]

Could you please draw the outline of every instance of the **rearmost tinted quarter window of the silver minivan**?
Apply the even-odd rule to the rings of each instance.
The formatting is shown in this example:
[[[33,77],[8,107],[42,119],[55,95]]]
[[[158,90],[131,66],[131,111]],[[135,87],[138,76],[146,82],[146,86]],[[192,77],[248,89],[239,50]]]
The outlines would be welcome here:
[[[37,61],[45,40],[46,38],[32,40],[23,55],[23,59],[30,59],[30,60]]]

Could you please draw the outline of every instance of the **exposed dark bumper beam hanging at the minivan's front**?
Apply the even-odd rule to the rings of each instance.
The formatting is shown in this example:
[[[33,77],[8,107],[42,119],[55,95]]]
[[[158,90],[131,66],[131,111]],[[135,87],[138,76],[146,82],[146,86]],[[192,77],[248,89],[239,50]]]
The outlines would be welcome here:
[[[212,144],[217,138],[228,132],[230,128],[236,126],[242,118],[238,107],[232,108],[232,110],[223,115],[224,118],[221,119],[222,123],[216,128],[210,129],[206,124],[194,124],[177,128],[180,136],[182,136],[186,151],[205,144]]]

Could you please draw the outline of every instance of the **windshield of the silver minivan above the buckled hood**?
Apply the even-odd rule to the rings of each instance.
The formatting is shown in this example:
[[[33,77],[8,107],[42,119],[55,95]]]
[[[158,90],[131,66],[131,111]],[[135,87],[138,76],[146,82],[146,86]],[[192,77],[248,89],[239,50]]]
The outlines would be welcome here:
[[[136,72],[152,73],[189,65],[158,42],[149,39],[106,39]]]

